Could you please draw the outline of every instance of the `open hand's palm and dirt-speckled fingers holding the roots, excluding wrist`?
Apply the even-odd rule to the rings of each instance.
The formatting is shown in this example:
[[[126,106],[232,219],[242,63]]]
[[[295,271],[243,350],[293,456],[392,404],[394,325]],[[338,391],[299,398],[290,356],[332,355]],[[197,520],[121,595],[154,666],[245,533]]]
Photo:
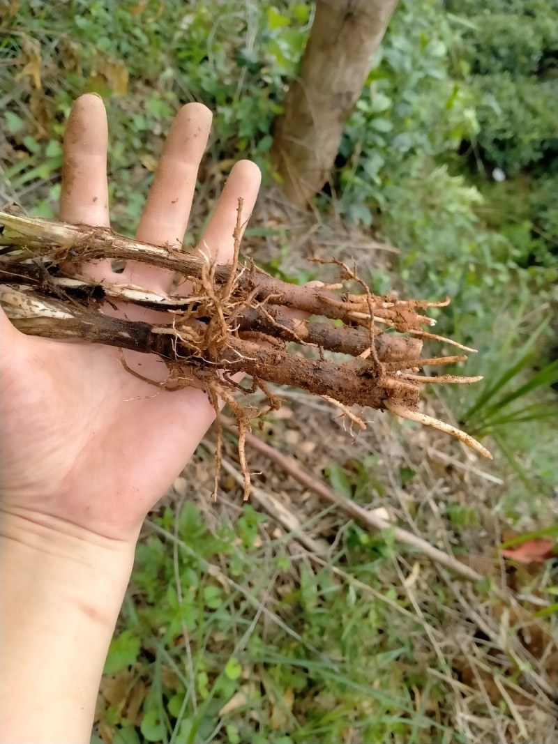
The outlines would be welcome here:
[[[182,246],[210,126],[211,112],[197,103],[176,116],[138,239]],[[65,222],[109,225],[106,147],[103,103],[86,94],[74,104],[65,132]],[[240,161],[231,170],[202,237],[205,252],[220,263],[233,252],[238,198],[248,216],[259,185],[253,163]],[[108,261],[83,271],[155,291],[167,292],[172,282],[169,272],[137,263],[123,274],[112,272]],[[139,319],[144,311],[133,312]],[[0,507],[61,529],[133,539],[214,419],[207,395],[192,388],[158,391],[124,370],[118,350],[23,336],[3,313],[0,344]],[[126,362],[150,379],[164,378],[164,365],[150,356],[126,353]]]

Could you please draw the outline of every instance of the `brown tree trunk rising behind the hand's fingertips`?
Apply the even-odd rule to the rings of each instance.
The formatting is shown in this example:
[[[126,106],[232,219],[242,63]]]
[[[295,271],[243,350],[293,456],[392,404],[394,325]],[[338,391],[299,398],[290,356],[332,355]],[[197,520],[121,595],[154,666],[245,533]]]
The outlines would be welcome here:
[[[305,205],[327,182],[341,134],[397,0],[318,0],[301,72],[275,122],[283,192]]]

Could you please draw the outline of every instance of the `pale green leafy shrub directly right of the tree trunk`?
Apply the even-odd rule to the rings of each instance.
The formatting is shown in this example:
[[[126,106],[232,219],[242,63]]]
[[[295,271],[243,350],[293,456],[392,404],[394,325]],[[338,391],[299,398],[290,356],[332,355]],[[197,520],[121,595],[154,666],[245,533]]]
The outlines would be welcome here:
[[[371,225],[397,174],[416,177],[415,161],[475,135],[473,97],[448,74],[451,37],[437,1],[398,5],[341,141],[336,185],[348,219]]]

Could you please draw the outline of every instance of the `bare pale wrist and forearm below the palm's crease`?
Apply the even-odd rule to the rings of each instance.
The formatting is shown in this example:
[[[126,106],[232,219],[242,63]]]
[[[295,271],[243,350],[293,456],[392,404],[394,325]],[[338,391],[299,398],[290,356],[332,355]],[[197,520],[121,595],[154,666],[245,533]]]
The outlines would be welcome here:
[[[0,512],[0,740],[89,742],[134,544]]]

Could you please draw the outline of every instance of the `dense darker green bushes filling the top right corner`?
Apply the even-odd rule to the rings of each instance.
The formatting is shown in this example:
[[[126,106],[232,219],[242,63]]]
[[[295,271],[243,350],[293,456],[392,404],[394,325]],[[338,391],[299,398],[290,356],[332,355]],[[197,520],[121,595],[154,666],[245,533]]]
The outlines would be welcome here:
[[[558,253],[558,2],[449,0],[446,7],[455,32],[452,71],[469,83],[479,125],[468,138],[469,167],[457,167],[477,171],[478,186],[495,199],[493,215],[490,205],[483,214],[514,244],[519,263],[545,267],[551,281]],[[513,181],[491,185],[487,171],[495,166]]]

